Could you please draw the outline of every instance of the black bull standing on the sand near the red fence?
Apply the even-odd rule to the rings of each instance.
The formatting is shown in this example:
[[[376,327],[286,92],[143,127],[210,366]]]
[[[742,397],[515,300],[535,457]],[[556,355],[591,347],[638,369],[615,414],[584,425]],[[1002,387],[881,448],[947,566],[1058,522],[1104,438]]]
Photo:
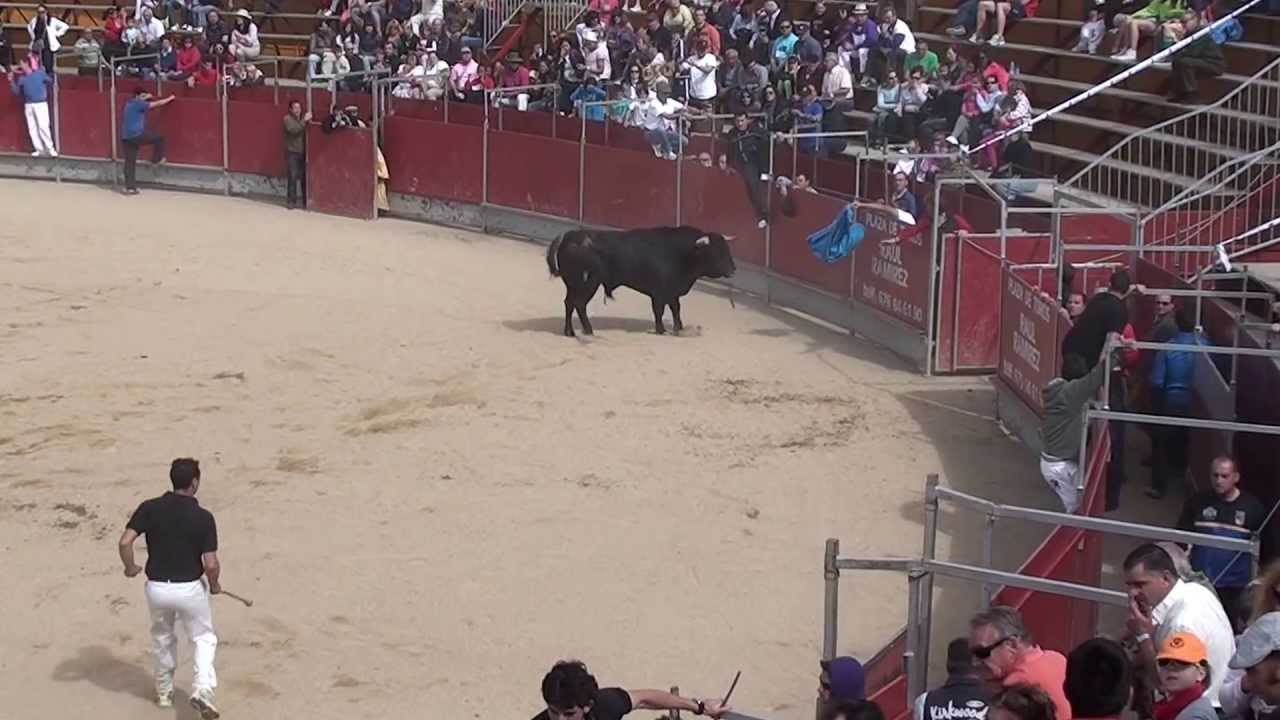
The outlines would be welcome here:
[[[698,278],[727,278],[737,269],[724,236],[681,225],[634,231],[568,231],[547,249],[547,268],[564,281],[564,334],[573,337],[573,311],[582,332],[591,334],[586,304],[604,286],[613,297],[618,286],[648,295],[653,302],[653,323],[658,334],[667,332],[662,315],[671,307],[675,331],[680,319],[680,299]]]

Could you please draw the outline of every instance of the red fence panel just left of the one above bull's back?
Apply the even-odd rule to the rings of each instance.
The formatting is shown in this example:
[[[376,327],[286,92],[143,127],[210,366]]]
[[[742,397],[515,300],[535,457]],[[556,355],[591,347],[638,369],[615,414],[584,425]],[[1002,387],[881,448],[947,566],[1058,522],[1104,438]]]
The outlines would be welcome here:
[[[577,217],[579,147],[549,137],[489,132],[489,202]]]

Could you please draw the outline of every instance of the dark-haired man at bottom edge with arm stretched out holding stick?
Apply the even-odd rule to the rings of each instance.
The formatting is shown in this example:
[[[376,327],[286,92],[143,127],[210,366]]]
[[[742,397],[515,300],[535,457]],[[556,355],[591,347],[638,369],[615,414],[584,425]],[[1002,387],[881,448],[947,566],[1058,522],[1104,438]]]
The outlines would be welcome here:
[[[690,700],[663,691],[625,691],[602,688],[576,660],[557,662],[543,678],[547,710],[534,720],[620,720],[632,710],[684,710],[694,715],[719,717],[730,711],[717,700]]]

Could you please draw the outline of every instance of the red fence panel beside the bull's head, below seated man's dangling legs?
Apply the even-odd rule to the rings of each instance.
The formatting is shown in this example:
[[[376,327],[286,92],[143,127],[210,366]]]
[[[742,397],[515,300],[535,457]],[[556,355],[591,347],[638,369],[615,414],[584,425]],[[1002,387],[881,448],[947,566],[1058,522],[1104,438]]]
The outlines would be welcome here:
[[[657,159],[655,159],[657,160]],[[669,167],[669,161],[668,167]],[[733,236],[733,258],[744,263],[763,266],[764,231],[756,227],[755,210],[746,197],[742,178],[733,170],[722,170],[713,165],[704,168],[694,160],[685,160],[680,167],[680,222],[709,232]],[[759,178],[760,196],[765,197],[768,186]]]

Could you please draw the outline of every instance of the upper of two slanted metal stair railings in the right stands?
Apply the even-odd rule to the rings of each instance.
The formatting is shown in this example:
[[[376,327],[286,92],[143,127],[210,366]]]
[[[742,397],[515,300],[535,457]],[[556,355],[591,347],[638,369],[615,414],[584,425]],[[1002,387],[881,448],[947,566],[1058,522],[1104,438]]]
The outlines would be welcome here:
[[[1236,172],[1226,182],[1212,179],[1233,159],[1251,155],[1257,164],[1276,158],[1274,152],[1260,151],[1280,137],[1277,118],[1280,59],[1216,102],[1124,138],[1064,184],[1146,211],[1167,210],[1179,205],[1179,197],[1185,199],[1188,191],[1194,193],[1198,186],[1212,183],[1210,192],[1201,193],[1198,204],[1181,204],[1181,209],[1212,211],[1229,205],[1247,190],[1248,173]]]

